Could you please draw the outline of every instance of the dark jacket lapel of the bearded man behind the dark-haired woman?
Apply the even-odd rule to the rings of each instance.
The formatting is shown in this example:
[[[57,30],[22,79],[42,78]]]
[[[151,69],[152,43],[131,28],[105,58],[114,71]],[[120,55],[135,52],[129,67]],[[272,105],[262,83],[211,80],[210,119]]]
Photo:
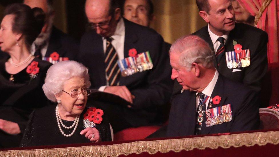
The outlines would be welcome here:
[[[51,53],[57,52],[59,53],[60,56],[63,56],[65,53],[64,51],[61,50],[61,42],[59,41],[59,36],[60,32],[55,28],[54,26],[52,27],[51,35],[49,38],[49,44],[47,46],[47,52],[45,53],[45,57],[49,57]]]

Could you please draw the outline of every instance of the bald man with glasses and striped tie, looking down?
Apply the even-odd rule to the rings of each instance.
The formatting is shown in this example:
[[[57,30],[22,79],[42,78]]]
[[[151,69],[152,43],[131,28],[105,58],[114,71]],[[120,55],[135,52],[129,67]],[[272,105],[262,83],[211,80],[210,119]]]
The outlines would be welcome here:
[[[122,18],[116,0],[87,0],[85,13],[91,31],[81,38],[78,60],[89,69],[91,88],[130,103],[125,107],[100,106],[114,115],[110,118],[114,132],[161,123],[157,117],[170,100],[172,90],[169,57],[162,36]],[[137,67],[133,67],[135,63]]]

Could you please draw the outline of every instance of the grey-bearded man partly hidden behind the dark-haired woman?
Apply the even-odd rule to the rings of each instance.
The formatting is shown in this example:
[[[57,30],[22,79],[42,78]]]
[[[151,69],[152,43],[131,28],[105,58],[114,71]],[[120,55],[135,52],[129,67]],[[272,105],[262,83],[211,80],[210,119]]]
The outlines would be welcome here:
[[[78,42],[53,26],[55,11],[52,0],[25,0],[23,3],[31,8],[39,7],[46,14],[45,25],[31,46],[31,53],[52,63],[53,60],[75,59],[79,51]]]

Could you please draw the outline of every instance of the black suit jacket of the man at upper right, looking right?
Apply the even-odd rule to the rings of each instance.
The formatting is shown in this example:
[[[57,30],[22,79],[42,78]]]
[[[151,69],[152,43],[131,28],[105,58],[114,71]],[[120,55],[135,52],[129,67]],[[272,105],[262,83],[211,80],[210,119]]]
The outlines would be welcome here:
[[[213,50],[212,53],[215,56],[213,43],[208,33],[208,26],[201,28],[193,33],[193,35],[198,35],[204,39],[210,45]],[[214,67],[216,67],[222,75],[230,80],[243,83],[259,92],[261,90],[262,78],[264,77],[268,66],[267,33],[250,25],[236,23],[235,28],[230,31],[228,39],[225,43],[225,52],[234,51],[233,41],[241,44],[243,46],[242,49],[250,49],[251,64],[248,67],[236,68],[241,71],[232,72],[233,69],[229,69],[227,67],[226,56],[225,53],[223,53],[219,67],[217,67],[217,61],[214,57]],[[182,87],[176,81],[173,94],[180,93],[181,89]]]

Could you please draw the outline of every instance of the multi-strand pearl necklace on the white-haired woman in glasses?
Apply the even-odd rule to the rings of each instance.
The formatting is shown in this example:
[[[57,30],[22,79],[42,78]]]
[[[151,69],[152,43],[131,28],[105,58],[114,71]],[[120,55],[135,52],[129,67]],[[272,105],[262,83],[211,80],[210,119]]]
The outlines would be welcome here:
[[[58,106],[58,105],[56,106],[55,114],[56,114],[56,120],[57,120],[58,128],[59,128],[60,132],[62,133],[62,135],[66,136],[66,137],[71,137],[71,136],[75,133],[75,130],[77,130],[77,125],[78,125],[78,122],[79,122],[80,114],[77,115],[77,116],[75,117],[75,121],[74,121],[73,125],[71,125],[71,126],[65,126],[65,125],[63,124],[63,122],[62,122],[62,120],[61,120],[61,116],[60,116],[60,114],[59,114],[59,106]],[[75,126],[75,128],[74,128],[74,130],[71,132],[71,134],[65,134],[65,133],[63,132],[63,130],[62,130],[60,124],[61,124],[64,128],[66,128],[66,129],[71,129],[71,128],[73,128],[73,126]]]

